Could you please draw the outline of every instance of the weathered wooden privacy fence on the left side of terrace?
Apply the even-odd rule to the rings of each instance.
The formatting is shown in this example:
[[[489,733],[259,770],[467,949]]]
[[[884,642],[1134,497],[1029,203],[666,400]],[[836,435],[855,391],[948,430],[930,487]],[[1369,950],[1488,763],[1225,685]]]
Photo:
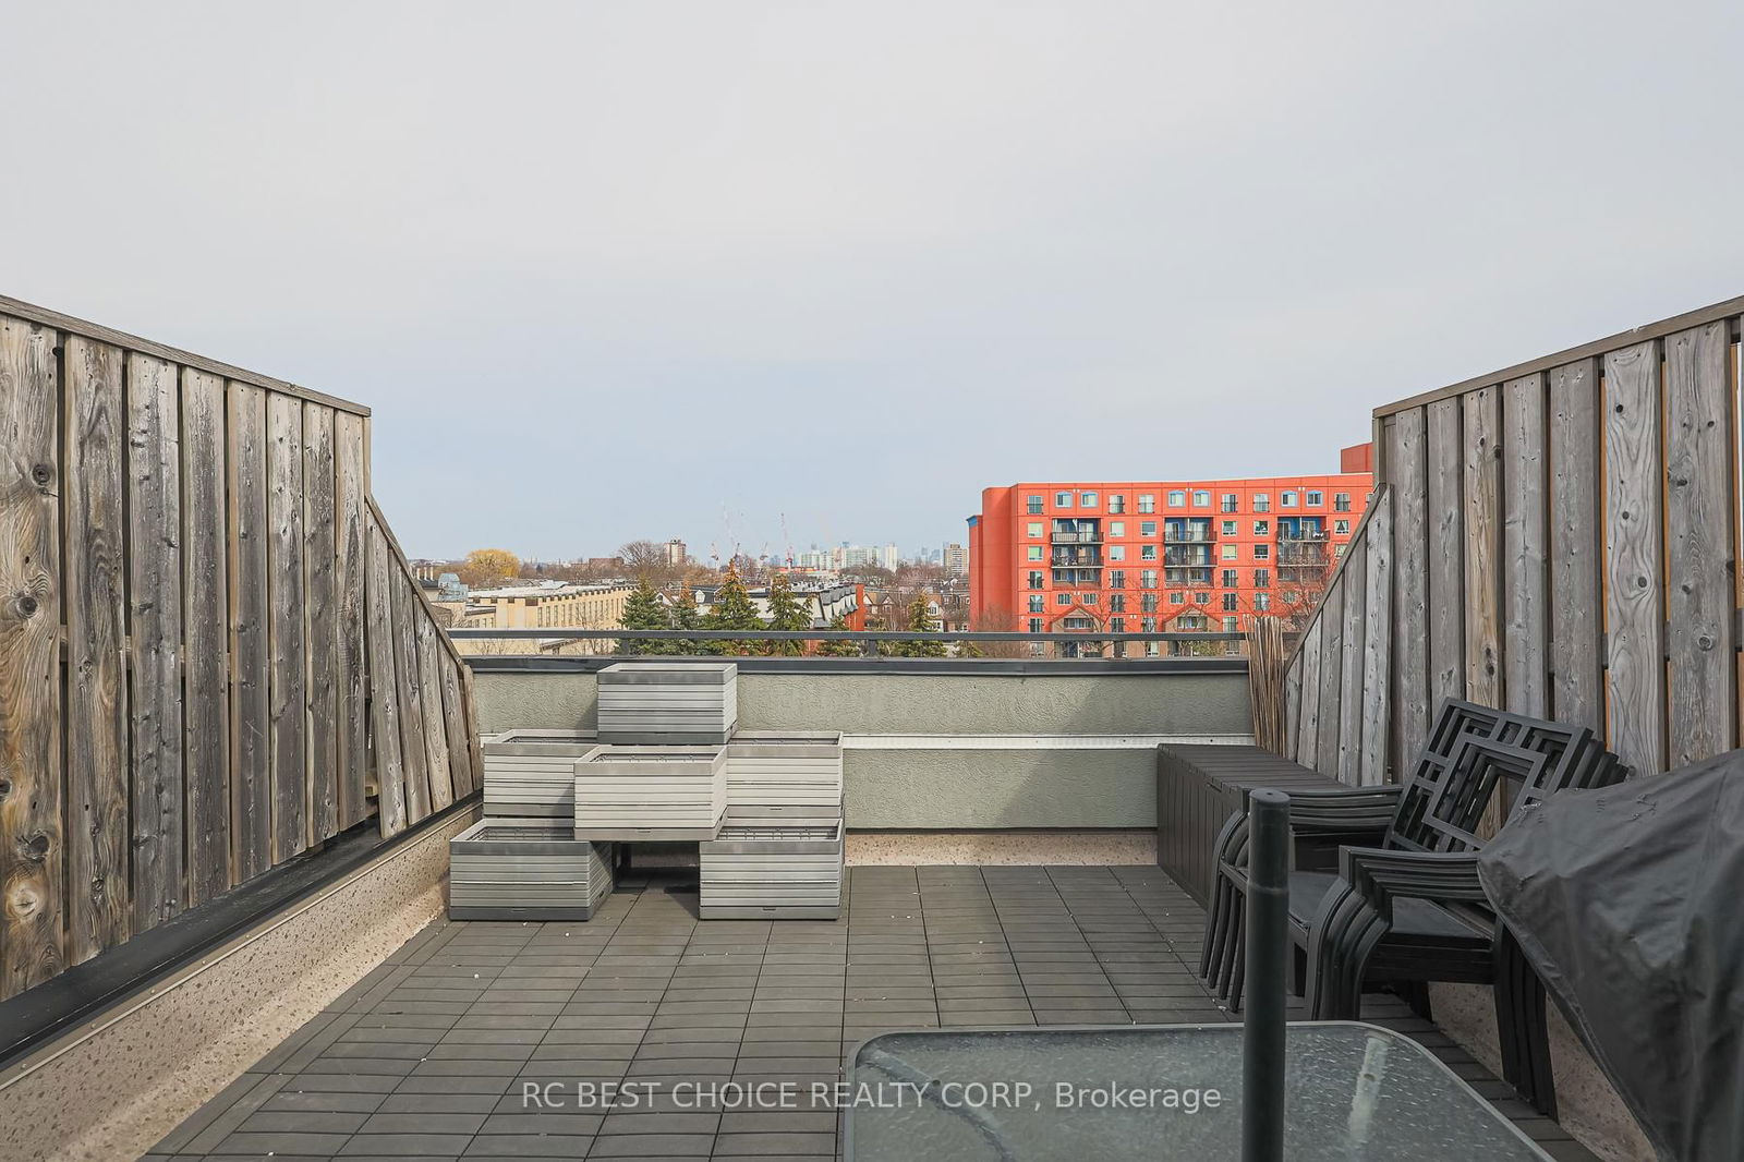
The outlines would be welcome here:
[[[476,785],[368,422],[0,298],[0,998]]]

